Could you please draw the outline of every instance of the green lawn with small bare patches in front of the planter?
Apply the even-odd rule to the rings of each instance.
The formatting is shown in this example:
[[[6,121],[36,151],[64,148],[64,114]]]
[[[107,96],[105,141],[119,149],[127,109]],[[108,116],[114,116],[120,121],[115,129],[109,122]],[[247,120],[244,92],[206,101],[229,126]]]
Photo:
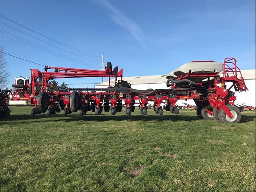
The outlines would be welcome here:
[[[31,118],[32,107],[10,108],[0,191],[255,191],[255,112],[222,124],[195,110]]]

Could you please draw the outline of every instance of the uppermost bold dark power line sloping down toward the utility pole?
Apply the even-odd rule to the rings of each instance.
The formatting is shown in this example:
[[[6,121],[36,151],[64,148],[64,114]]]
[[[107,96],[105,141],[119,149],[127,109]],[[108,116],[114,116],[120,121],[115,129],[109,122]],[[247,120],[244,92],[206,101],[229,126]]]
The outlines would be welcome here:
[[[18,22],[15,22],[14,20],[11,20],[10,18],[8,18],[8,17],[6,17],[6,16],[3,16],[2,14],[0,14],[0,17],[3,18],[3,19],[5,19],[5,20],[8,20],[9,22],[12,22],[12,23],[14,23],[14,24],[16,24],[16,25],[18,25],[18,26],[21,26],[21,27],[23,27],[23,28],[25,28],[25,29],[27,29],[27,30],[30,30],[30,31],[32,31],[32,32],[34,32],[34,33],[36,33],[36,34],[38,34],[38,35],[40,35],[40,36],[43,36],[44,38],[47,38],[47,39],[52,40],[52,41],[54,41],[54,42],[56,42],[56,43],[58,43],[58,44],[61,44],[62,46],[68,47],[68,48],[70,48],[70,49],[72,49],[72,50],[75,50],[75,51],[80,52],[80,53],[82,53],[82,54],[85,54],[85,55],[87,55],[87,56],[89,56],[88,54],[90,54],[90,53],[85,52],[85,51],[83,51],[83,50],[80,50],[80,49],[74,48],[74,47],[72,47],[72,46],[69,46],[69,45],[67,45],[67,44],[64,44],[64,43],[62,43],[62,42],[60,42],[60,41],[58,41],[58,40],[55,40],[55,39],[50,38],[50,37],[48,37],[48,36],[45,36],[44,34],[41,34],[41,33],[39,33],[39,32],[36,32],[35,30],[32,30],[32,29],[30,29],[30,28],[28,28],[28,27],[26,27],[26,26],[24,26],[24,25],[22,25],[22,24],[20,24],[20,23],[18,23]],[[96,55],[93,55],[93,54],[90,54],[90,55],[92,55],[92,56],[98,58],[98,56],[96,56]],[[90,56],[90,57],[92,57],[92,56]]]

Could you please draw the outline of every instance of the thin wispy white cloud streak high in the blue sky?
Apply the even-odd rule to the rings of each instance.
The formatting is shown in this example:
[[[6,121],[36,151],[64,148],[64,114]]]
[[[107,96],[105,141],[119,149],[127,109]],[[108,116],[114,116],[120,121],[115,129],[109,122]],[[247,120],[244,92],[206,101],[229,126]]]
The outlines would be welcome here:
[[[111,19],[119,26],[123,27],[132,34],[132,36],[142,45],[145,50],[148,50],[146,45],[143,43],[144,33],[142,29],[132,20],[130,20],[120,9],[110,4],[107,0],[99,0],[99,4],[103,5],[111,11]]]

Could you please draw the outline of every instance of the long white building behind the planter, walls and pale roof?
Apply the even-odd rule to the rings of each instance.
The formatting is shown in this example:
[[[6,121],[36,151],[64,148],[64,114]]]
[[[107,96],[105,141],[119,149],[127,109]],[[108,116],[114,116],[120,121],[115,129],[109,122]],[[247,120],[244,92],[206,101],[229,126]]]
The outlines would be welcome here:
[[[242,70],[242,76],[244,77],[246,86],[249,91],[247,92],[235,92],[236,104],[246,104],[248,106],[256,106],[256,92],[255,92],[255,69],[252,70]],[[133,89],[146,90],[152,89],[166,89],[166,75],[152,75],[152,76],[135,76],[135,77],[123,77],[124,81],[131,84]],[[114,86],[115,79],[110,81],[110,86]],[[228,85],[228,84],[227,84]],[[95,88],[107,88],[108,81],[95,85]],[[233,89],[234,91],[234,89]],[[178,100],[177,105],[184,105],[182,102],[195,105],[193,100]]]

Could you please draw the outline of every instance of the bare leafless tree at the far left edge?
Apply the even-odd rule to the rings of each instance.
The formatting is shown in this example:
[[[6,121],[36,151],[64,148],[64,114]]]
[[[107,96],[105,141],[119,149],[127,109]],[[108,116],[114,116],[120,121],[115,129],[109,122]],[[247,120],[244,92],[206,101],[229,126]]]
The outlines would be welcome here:
[[[0,47],[0,51],[3,51],[2,47]],[[8,72],[6,60],[4,59],[4,54],[0,52],[0,88],[6,86],[9,76],[10,73]]]

